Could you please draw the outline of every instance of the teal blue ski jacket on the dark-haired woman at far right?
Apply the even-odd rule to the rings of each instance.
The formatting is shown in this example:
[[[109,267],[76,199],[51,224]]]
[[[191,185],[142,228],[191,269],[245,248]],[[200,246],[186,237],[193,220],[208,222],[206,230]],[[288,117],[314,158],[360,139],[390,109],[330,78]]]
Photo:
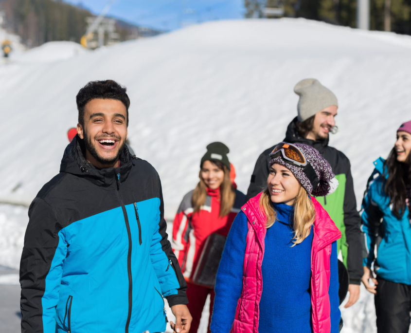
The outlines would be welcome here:
[[[411,285],[410,212],[406,208],[401,219],[393,214],[390,198],[384,192],[384,160],[378,158],[374,166],[361,210],[361,229],[368,252],[363,265],[371,267],[374,261],[374,270],[378,276]]]

